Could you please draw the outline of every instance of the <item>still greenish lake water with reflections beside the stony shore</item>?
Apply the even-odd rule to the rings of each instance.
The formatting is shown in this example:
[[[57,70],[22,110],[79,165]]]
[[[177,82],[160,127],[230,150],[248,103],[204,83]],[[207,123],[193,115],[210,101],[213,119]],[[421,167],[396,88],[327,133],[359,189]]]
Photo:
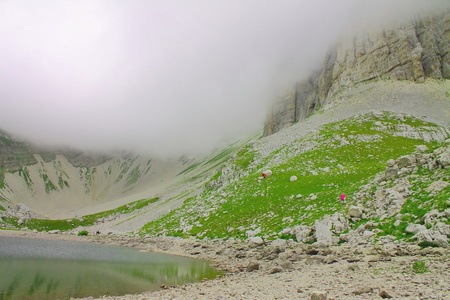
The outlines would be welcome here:
[[[133,248],[0,237],[0,300],[136,294],[218,274],[206,261]]]

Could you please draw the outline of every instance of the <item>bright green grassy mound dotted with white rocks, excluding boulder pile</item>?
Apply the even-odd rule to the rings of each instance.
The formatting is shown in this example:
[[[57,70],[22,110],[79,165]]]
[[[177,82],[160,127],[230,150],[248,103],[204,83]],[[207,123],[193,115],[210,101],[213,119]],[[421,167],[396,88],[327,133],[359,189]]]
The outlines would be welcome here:
[[[418,145],[434,149],[447,137],[448,131],[433,123],[369,113],[329,123],[269,151],[266,138],[238,152],[223,168],[219,185],[209,185],[143,232],[273,239],[291,236],[293,227],[312,226],[335,213],[346,220],[350,204],[358,203],[360,187],[380,176],[386,161],[412,154]],[[266,169],[273,175],[264,179],[261,172]],[[292,176],[297,179],[290,181]],[[347,195],[344,207],[342,193]]]

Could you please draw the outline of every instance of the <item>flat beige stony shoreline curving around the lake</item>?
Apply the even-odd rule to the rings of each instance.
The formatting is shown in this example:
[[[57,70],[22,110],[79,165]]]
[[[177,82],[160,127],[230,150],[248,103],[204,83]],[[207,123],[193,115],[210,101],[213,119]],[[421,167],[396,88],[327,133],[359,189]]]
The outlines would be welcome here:
[[[449,249],[407,243],[319,246],[175,237],[0,231],[0,236],[92,242],[212,262],[224,276],[98,299],[450,299]],[[84,298],[84,299],[93,299]]]

